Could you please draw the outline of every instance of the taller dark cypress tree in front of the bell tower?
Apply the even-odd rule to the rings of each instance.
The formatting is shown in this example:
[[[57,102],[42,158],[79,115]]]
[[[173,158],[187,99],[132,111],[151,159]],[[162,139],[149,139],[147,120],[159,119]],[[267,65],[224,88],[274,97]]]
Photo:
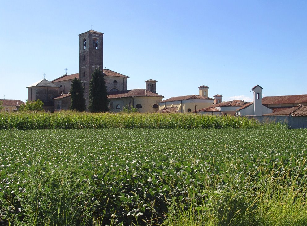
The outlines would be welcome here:
[[[89,111],[106,112],[109,111],[108,93],[104,74],[100,69],[95,69],[89,83]]]

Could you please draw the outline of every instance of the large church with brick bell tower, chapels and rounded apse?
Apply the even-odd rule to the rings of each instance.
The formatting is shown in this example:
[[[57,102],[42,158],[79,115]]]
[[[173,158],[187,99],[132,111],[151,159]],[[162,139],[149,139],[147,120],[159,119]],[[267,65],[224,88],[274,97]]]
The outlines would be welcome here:
[[[134,107],[139,112],[156,112],[163,96],[157,90],[157,81],[145,81],[145,89],[127,90],[126,75],[103,69],[103,33],[89,30],[79,34],[79,73],[67,73],[52,81],[42,79],[27,87],[28,101],[40,99],[45,111],[68,110],[71,104],[71,82],[76,77],[84,87],[86,107],[89,105],[89,83],[95,69],[104,73],[106,89],[110,100],[110,111],[119,112],[123,107]]]

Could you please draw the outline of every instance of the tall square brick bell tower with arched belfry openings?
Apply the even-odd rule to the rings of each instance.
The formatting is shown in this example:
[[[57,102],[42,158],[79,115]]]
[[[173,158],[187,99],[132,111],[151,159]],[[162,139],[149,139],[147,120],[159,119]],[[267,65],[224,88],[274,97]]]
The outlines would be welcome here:
[[[84,87],[86,108],[89,105],[89,81],[96,68],[103,70],[103,33],[89,30],[79,34],[79,79]]]

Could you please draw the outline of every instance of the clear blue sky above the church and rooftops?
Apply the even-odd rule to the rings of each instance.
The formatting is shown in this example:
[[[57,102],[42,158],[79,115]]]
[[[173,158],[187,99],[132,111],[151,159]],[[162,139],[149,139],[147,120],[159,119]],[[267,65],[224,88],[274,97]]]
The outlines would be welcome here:
[[[104,67],[165,98],[307,94],[307,1],[1,1],[0,99],[79,73],[80,33],[104,33]]]

